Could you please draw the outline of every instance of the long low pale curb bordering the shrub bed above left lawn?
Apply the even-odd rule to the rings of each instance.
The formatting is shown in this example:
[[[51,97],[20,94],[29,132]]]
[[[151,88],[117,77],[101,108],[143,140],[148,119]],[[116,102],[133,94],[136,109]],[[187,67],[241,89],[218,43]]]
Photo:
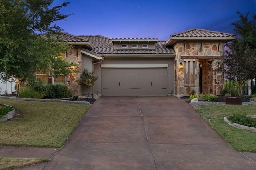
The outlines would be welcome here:
[[[70,101],[70,100],[56,100],[56,99],[31,99],[31,98],[15,98],[15,97],[7,97],[0,96],[2,99],[10,99],[10,100],[23,100],[23,101],[36,101],[36,102],[60,102],[60,103],[71,103],[71,104],[88,104],[91,105],[87,101]]]

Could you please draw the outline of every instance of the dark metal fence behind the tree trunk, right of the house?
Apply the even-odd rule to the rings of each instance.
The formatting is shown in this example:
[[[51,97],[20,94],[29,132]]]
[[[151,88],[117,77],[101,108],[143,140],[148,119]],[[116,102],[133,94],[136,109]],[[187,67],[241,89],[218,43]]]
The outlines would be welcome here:
[[[251,94],[255,93],[253,90],[253,86],[255,86],[255,79],[248,80],[247,82],[245,82],[244,86],[243,86],[242,95],[251,95]],[[225,80],[224,88],[233,89],[234,92],[235,92],[235,90],[237,90],[237,93],[238,93],[238,84],[234,81]]]

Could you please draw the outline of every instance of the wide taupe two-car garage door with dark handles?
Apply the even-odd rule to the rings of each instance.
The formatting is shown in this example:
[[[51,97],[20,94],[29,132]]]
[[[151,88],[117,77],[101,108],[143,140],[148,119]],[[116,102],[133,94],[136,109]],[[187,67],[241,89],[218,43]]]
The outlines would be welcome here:
[[[102,68],[103,96],[167,96],[167,68]]]

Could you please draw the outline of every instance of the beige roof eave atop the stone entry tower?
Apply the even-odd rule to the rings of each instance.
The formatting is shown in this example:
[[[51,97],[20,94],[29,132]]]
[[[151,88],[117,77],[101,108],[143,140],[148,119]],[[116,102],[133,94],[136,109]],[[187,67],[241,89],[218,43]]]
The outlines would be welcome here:
[[[164,46],[174,45],[177,41],[232,41],[236,39],[236,37],[170,37]]]

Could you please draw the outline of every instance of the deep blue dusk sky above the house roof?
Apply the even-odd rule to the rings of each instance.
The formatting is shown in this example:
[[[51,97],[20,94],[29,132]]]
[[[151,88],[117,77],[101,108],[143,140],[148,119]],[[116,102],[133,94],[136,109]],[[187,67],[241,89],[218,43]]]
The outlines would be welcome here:
[[[158,38],[200,28],[234,34],[236,13],[256,14],[256,0],[54,0],[69,1],[60,13],[71,14],[56,21],[72,35],[102,35],[109,38]]]

